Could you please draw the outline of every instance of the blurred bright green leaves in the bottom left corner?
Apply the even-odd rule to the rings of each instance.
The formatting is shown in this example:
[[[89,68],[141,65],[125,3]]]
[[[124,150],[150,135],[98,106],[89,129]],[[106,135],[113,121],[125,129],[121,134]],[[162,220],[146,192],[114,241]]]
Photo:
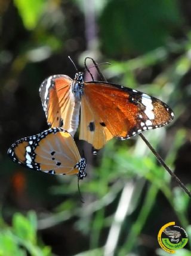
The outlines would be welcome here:
[[[48,246],[37,245],[36,215],[29,212],[27,217],[16,213],[13,216],[13,227],[4,224],[0,233],[0,255],[32,255],[50,256],[51,249]]]

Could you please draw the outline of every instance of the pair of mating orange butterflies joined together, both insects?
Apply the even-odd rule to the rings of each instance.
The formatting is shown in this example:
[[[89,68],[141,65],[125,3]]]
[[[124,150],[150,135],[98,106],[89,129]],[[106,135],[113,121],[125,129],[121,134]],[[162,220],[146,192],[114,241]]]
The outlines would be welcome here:
[[[39,92],[48,125],[57,128],[16,141],[8,154],[19,164],[51,174],[86,176],[85,159],[72,137],[79,125],[79,112],[79,139],[91,143],[95,150],[113,137],[125,140],[167,125],[174,118],[161,100],[114,83],[84,82],[81,72],[74,80],[50,76]]]

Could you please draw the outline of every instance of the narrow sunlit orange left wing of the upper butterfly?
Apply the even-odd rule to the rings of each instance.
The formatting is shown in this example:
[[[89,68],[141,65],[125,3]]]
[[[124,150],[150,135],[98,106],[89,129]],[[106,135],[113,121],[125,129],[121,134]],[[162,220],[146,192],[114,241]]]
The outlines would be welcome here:
[[[50,76],[42,82],[39,92],[48,125],[63,127],[72,135],[79,123],[80,103],[75,100],[69,76]]]

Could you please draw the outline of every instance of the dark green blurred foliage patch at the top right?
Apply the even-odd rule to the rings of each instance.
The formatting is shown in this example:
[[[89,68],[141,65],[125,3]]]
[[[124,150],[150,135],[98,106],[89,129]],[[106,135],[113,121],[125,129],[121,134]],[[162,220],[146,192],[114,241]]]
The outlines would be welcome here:
[[[100,16],[101,44],[112,58],[164,46],[181,26],[174,0],[111,0]]]

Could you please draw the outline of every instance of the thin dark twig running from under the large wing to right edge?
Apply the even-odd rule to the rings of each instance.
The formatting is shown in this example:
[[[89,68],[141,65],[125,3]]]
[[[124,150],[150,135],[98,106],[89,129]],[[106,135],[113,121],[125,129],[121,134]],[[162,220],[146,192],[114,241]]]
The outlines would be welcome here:
[[[181,182],[180,179],[178,179],[178,177],[171,171],[171,169],[168,167],[167,164],[165,164],[164,160],[161,158],[161,156],[159,155],[159,153],[156,152],[156,150],[151,146],[151,144],[149,143],[149,141],[147,141],[146,137],[144,137],[143,134],[139,134],[140,137],[142,138],[142,140],[146,143],[146,145],[149,147],[149,149],[152,151],[153,155],[156,156],[156,158],[158,159],[159,163],[165,168],[165,170],[168,171],[168,173],[170,173],[170,175],[172,176],[172,178],[175,179],[175,181],[178,183],[178,185],[181,186],[181,188],[183,189],[184,192],[186,192],[187,195],[189,195],[189,197],[191,197],[191,192],[186,188],[186,186]]]

